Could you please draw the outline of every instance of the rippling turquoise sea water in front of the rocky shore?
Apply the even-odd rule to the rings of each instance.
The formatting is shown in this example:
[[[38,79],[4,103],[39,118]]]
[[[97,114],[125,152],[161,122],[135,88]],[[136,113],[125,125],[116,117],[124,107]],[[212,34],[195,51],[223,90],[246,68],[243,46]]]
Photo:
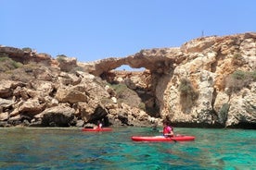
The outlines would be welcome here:
[[[188,142],[135,142],[151,128],[0,128],[1,169],[256,169],[256,131],[175,128]]]

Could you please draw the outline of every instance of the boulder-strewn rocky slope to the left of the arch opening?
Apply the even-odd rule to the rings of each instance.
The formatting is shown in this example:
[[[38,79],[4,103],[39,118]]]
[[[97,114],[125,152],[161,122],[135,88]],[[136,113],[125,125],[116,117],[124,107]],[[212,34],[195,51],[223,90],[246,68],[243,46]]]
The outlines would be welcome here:
[[[0,127],[160,124],[124,83],[110,84],[84,71],[75,58],[44,56],[0,47]]]

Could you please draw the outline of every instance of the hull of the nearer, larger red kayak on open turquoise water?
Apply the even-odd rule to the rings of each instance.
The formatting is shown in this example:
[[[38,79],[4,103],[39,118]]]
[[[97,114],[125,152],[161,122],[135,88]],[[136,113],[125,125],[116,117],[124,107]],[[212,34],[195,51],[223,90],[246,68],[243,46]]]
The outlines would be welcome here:
[[[134,141],[191,141],[195,140],[196,137],[186,136],[186,135],[178,135],[174,137],[164,137],[164,136],[155,136],[155,137],[132,137]]]

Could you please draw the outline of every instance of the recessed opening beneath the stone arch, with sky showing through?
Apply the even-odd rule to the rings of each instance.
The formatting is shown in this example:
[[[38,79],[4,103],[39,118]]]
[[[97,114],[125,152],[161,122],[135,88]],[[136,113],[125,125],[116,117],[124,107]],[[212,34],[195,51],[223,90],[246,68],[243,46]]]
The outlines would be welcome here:
[[[155,95],[156,80],[145,67],[121,66],[100,76],[115,91],[117,103],[127,103],[144,110],[147,115],[160,117],[160,107]]]

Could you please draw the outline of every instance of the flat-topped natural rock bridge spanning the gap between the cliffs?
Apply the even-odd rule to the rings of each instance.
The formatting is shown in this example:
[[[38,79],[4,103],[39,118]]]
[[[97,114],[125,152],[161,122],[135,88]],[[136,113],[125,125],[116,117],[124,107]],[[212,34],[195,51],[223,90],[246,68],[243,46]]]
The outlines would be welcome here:
[[[127,57],[110,57],[95,62],[83,63],[85,71],[100,76],[104,72],[128,65],[132,68],[145,67],[152,73],[169,74],[173,67],[181,63],[186,57],[180,54],[180,48],[161,48],[141,50],[135,55]]]

